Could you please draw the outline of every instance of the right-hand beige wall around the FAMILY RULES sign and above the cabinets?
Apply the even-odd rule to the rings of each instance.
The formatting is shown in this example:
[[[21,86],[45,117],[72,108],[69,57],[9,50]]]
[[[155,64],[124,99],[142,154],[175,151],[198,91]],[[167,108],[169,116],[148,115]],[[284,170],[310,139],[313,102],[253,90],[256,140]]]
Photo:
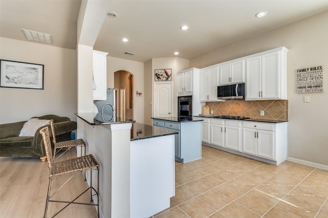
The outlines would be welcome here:
[[[226,60],[284,46],[288,73],[288,157],[328,165],[328,77],[322,93],[297,94],[296,70],[323,65],[328,73],[328,11],[190,60],[203,68]],[[311,102],[304,103],[308,95]]]

